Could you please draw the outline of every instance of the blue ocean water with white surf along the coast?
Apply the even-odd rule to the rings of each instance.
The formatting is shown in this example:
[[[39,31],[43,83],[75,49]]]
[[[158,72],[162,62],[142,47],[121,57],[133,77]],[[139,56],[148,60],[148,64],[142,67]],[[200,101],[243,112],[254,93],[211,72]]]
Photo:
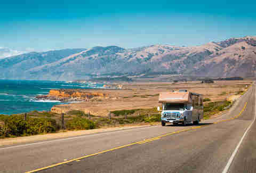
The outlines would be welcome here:
[[[38,100],[50,89],[100,88],[101,84],[66,83],[65,81],[0,80],[0,114],[17,114],[29,111],[51,110],[59,101]]]

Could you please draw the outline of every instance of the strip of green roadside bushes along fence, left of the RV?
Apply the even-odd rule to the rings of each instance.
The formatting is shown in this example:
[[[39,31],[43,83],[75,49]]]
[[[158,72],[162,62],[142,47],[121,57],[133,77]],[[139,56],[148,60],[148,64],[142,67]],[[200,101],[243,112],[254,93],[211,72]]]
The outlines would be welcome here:
[[[71,110],[64,115],[66,130],[87,130],[158,121],[161,121],[161,116],[156,108],[113,111],[110,119],[89,115],[79,110]],[[61,115],[52,112],[31,111],[26,116],[0,115],[0,138],[57,133],[61,130],[61,122]]]

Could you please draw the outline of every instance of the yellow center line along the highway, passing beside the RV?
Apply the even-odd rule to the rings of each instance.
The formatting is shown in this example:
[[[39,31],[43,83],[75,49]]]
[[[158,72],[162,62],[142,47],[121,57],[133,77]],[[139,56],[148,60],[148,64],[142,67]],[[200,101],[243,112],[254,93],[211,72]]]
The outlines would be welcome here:
[[[238,118],[239,116],[241,116],[241,114],[242,114],[243,111],[245,110],[246,105],[247,105],[247,102],[245,103],[244,108],[239,112],[239,114],[238,114],[237,116],[235,116],[235,117],[233,117],[233,118],[230,118],[230,119],[227,119],[227,120],[217,121],[217,122],[214,122],[214,123],[229,121],[229,120],[233,120],[233,119],[235,119],[235,118]],[[66,164],[66,163],[70,163],[70,162],[74,162],[74,161],[80,161],[81,159],[89,158],[89,157],[91,157],[91,156],[95,156],[95,155],[98,155],[98,154],[107,153],[107,152],[114,151],[114,150],[118,150],[118,149],[123,149],[124,147],[132,146],[132,145],[135,145],[135,144],[144,144],[144,143],[147,143],[147,142],[155,141],[155,140],[160,139],[160,138],[165,137],[165,136],[170,136],[170,135],[178,134],[178,133],[181,133],[181,132],[185,132],[185,131],[189,131],[189,130],[193,130],[193,129],[197,129],[197,128],[201,128],[201,127],[204,127],[204,126],[197,126],[197,127],[191,127],[191,128],[187,128],[187,129],[182,129],[182,130],[179,130],[179,131],[174,131],[174,132],[172,132],[172,133],[165,134],[165,135],[162,135],[162,136],[157,136],[157,137],[145,139],[145,140],[143,140],[143,141],[134,142],[134,143],[127,144],[127,145],[123,145],[123,146],[118,146],[118,147],[115,147],[115,148],[113,148],[113,149],[101,151],[101,152],[94,153],[94,154],[85,155],[85,156],[82,156],[81,158],[71,159],[71,160],[68,160],[68,161],[65,161],[65,162],[60,162],[60,163],[52,164],[51,166],[47,166],[47,167],[43,167],[43,168],[39,168],[39,169],[27,171],[27,172],[25,172],[25,173],[37,172],[37,171],[40,171],[40,170],[45,170],[45,169],[57,167],[57,166],[60,166],[60,165],[62,165],[62,164]]]

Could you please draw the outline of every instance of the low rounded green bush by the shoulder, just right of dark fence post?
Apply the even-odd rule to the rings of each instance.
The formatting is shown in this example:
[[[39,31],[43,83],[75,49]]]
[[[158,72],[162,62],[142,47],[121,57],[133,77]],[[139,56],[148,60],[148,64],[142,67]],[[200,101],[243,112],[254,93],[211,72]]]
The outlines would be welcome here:
[[[66,123],[66,128],[68,130],[87,130],[94,129],[95,123],[85,118],[73,118],[68,120]]]

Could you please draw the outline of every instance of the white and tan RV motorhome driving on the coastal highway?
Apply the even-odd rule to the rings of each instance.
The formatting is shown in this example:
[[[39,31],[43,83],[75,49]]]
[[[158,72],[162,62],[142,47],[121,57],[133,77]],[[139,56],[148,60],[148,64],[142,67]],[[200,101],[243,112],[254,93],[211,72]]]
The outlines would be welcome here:
[[[159,106],[158,111],[161,113],[162,126],[166,123],[178,125],[182,123],[198,124],[203,119],[203,96],[197,93],[191,93],[187,90],[179,90],[179,92],[165,92],[159,94],[159,103],[162,103],[162,110]]]

